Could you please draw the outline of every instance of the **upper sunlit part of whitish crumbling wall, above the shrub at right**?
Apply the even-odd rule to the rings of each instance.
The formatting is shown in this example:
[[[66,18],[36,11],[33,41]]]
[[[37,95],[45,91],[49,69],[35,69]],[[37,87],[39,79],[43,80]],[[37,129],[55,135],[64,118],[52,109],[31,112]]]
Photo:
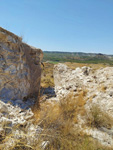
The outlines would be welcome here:
[[[102,110],[113,116],[113,67],[96,71],[89,67],[71,70],[64,64],[54,67],[55,92],[60,99],[71,91],[87,91],[86,107],[97,104]]]

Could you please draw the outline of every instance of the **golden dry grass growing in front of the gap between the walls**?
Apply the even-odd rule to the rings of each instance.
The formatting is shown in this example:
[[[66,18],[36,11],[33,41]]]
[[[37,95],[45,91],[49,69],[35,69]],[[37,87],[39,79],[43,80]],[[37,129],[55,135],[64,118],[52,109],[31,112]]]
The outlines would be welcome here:
[[[41,103],[37,123],[43,128],[40,141],[48,141],[46,150],[109,149],[102,147],[75,127],[75,124],[78,123],[78,115],[86,115],[84,109],[86,93],[87,91],[78,91],[78,94],[74,95],[71,92],[60,102]]]

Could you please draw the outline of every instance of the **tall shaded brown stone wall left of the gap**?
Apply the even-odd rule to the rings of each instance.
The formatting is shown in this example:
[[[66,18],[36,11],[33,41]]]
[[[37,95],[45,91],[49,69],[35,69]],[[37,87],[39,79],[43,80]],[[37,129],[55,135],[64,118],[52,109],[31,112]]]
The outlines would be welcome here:
[[[0,28],[0,99],[38,96],[43,53]]]

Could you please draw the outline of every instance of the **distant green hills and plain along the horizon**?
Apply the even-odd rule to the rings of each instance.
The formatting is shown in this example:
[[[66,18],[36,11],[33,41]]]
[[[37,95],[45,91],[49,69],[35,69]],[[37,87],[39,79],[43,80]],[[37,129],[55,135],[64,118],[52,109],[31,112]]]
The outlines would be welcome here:
[[[52,63],[108,63],[113,65],[113,55],[106,55],[101,53],[44,51],[43,61],[50,61]]]

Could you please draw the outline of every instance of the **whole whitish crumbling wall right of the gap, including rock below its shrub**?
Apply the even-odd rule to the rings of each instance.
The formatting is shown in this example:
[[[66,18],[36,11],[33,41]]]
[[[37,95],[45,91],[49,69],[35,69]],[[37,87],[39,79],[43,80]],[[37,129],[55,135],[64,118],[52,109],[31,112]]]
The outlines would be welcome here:
[[[86,103],[84,105],[85,113],[91,115],[93,106],[97,106],[105,116],[113,121],[113,67],[93,70],[89,67],[76,68],[71,70],[64,64],[58,64],[54,67],[54,82],[57,100],[66,98],[72,92],[74,95],[78,91],[87,91],[85,95]],[[96,109],[95,112],[98,110]],[[101,114],[98,114],[101,115]],[[101,144],[113,147],[113,122],[110,128],[105,126],[88,127],[85,123],[87,118],[79,116],[79,127],[87,135],[97,139]],[[109,119],[108,119],[109,120]],[[110,120],[107,120],[107,124]],[[84,128],[82,127],[84,124]]]

